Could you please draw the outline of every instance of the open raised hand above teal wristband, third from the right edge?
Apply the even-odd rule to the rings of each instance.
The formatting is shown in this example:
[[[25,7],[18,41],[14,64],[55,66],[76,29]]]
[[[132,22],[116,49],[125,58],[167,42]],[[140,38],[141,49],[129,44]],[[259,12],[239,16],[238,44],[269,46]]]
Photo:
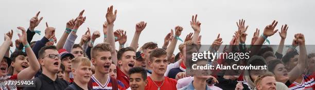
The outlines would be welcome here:
[[[271,35],[276,33],[278,29],[274,30],[274,28],[277,26],[277,24],[278,22],[274,20],[271,25],[267,25],[264,29],[264,35],[266,37],[270,37]]]

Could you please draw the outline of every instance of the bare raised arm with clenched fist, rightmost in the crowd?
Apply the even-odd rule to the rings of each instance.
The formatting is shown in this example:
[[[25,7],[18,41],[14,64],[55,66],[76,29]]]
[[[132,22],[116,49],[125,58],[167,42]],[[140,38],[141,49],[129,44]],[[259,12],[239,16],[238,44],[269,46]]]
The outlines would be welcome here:
[[[294,35],[294,41],[300,46],[299,61],[298,64],[288,73],[290,82],[294,82],[296,78],[301,77],[304,73],[306,65],[306,47],[305,38],[301,33]]]

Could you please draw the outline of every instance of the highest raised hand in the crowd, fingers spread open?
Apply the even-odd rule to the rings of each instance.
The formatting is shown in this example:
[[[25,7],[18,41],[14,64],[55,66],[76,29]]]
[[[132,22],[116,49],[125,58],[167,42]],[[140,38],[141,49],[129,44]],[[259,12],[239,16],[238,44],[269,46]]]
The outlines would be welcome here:
[[[117,10],[115,10],[115,12],[113,13],[113,6],[107,8],[106,21],[108,24],[113,24],[115,22],[116,14]]]

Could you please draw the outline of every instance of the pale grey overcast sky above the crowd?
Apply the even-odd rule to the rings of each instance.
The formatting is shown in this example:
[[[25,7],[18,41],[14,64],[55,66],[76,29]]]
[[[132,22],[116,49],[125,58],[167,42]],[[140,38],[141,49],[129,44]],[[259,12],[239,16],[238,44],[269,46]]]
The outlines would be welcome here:
[[[85,9],[83,16],[86,16],[85,23],[79,28],[76,43],[79,43],[81,35],[90,27],[91,31],[99,30],[102,32],[102,24],[105,19],[107,8],[113,5],[117,9],[117,17],[114,30],[124,29],[127,31],[127,43],[130,45],[135,24],[140,21],[147,22],[147,27],[141,33],[139,46],[146,42],[156,42],[161,48],[165,35],[175,26],[184,28],[180,38],[185,39],[189,32],[193,32],[189,21],[191,16],[198,14],[198,20],[201,24],[202,44],[212,44],[213,40],[220,33],[223,44],[229,44],[234,31],[237,30],[236,21],[245,19],[246,25],[249,25],[247,33],[247,44],[250,44],[255,28],[263,33],[266,25],[273,20],[278,21],[277,29],[281,25],[288,24],[288,34],[285,44],[291,44],[295,33],[305,35],[306,44],[315,44],[315,1],[293,1],[293,0],[261,0],[261,1],[193,1],[193,0],[126,0],[126,1],[81,1],[81,0],[54,0],[54,1],[2,1],[0,3],[0,28],[4,33],[13,29],[13,43],[17,37],[17,26],[28,28],[29,20],[38,11],[39,16],[44,19],[36,27],[41,30],[41,35],[34,35],[33,41],[44,37],[45,22],[56,28],[56,37],[59,39],[65,29],[67,21],[78,16],[79,12]],[[103,36],[96,40],[101,43]],[[278,44],[279,34],[276,33],[268,38],[271,44]],[[3,39],[0,39],[3,42]],[[178,41],[177,46],[182,43]],[[125,45],[125,46],[126,46]],[[116,44],[116,47],[118,43]],[[14,48],[11,48],[14,50]],[[175,52],[178,52],[178,48]]]

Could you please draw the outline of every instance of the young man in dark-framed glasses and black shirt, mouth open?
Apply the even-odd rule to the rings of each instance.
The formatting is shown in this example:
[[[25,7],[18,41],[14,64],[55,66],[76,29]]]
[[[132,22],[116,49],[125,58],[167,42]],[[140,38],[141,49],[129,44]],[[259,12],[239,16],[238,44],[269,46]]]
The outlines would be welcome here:
[[[35,87],[25,87],[24,89],[65,89],[69,83],[57,78],[57,73],[61,64],[61,56],[56,46],[44,46],[39,50],[39,63],[42,66],[42,74],[34,78]]]

